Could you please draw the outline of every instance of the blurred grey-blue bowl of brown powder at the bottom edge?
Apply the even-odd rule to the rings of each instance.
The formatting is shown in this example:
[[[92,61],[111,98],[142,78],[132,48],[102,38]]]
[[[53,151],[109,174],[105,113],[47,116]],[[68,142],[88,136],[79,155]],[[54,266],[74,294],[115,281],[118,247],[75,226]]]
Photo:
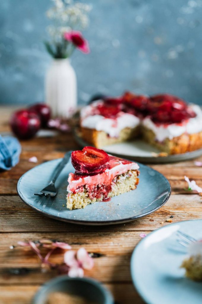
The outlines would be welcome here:
[[[109,290],[99,282],[89,278],[70,278],[62,275],[46,282],[34,296],[32,304],[45,304],[48,295],[56,291],[80,295],[98,304],[114,303]]]

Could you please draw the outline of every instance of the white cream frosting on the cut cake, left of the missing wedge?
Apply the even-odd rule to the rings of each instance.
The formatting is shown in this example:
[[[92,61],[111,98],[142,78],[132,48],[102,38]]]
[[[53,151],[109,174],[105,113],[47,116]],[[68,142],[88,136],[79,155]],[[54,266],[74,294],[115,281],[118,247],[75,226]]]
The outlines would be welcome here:
[[[94,108],[102,101],[94,102],[81,110],[81,126],[84,128],[95,129],[97,131],[104,131],[110,137],[116,137],[124,128],[134,128],[140,123],[140,119],[132,114],[120,112],[116,119],[105,118],[102,115],[91,115]]]

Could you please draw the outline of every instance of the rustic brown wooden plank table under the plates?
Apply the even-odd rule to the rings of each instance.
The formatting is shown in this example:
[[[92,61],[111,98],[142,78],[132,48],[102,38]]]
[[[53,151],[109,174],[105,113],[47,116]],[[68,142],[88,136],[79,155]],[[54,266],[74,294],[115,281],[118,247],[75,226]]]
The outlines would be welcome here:
[[[0,133],[9,131],[8,119],[13,108],[0,107]],[[194,161],[175,164],[151,165],[163,173],[172,187],[169,201],[149,216],[126,224],[91,227],[63,223],[47,218],[24,204],[16,192],[20,176],[36,166],[28,162],[36,156],[38,164],[63,157],[67,150],[79,147],[68,133],[52,138],[22,141],[19,164],[10,171],[0,173],[0,304],[28,304],[43,282],[55,276],[53,272],[41,272],[40,263],[31,251],[16,246],[19,240],[57,239],[68,242],[73,248],[85,247],[96,253],[94,268],[87,276],[98,279],[113,293],[119,304],[143,303],[132,285],[130,258],[141,232],[150,233],[159,227],[170,225],[166,219],[171,215],[173,223],[202,218],[202,200],[184,188],[184,175],[195,179],[202,187],[202,167]],[[198,160],[202,161],[202,157]],[[51,261],[62,261],[62,253],[53,254]]]

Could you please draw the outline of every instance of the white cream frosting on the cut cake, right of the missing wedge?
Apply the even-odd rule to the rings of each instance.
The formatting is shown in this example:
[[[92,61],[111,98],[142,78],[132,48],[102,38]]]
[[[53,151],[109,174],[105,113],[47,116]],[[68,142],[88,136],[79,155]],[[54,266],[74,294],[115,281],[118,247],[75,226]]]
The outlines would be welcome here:
[[[156,140],[163,141],[166,138],[173,139],[183,133],[193,134],[202,131],[202,111],[198,105],[190,105],[197,114],[183,123],[172,123],[170,125],[157,125],[149,117],[143,119],[142,124],[152,130],[156,135]]]

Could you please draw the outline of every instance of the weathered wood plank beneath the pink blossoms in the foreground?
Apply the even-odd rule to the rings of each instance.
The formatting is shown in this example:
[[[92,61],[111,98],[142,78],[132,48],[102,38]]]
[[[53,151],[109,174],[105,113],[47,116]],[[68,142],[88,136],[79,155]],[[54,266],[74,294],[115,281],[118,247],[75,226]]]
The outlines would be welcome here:
[[[85,247],[88,252],[98,254],[94,268],[85,274],[102,282],[130,282],[130,257],[141,240],[139,232],[84,232],[80,233],[11,233],[0,235],[0,283],[40,284],[55,275],[41,272],[40,261],[31,250],[22,247],[10,249],[18,240],[40,240],[42,238],[68,242],[73,249]],[[126,241],[127,240],[127,241]],[[43,250],[43,254],[47,250]],[[6,261],[6,263],[5,263]],[[50,257],[53,263],[63,262],[63,251],[56,250]],[[14,275],[13,268],[26,268],[21,275]],[[20,271],[21,272],[21,271]]]

